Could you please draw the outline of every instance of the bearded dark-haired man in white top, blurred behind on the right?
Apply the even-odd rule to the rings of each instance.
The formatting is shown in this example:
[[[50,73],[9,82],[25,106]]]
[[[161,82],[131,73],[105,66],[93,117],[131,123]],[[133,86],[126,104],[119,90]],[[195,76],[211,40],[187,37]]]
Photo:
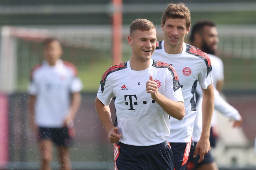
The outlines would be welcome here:
[[[238,111],[230,106],[221,96],[223,82],[224,82],[224,69],[221,59],[215,56],[215,50],[217,49],[217,43],[219,42],[218,31],[215,24],[212,21],[199,21],[191,29],[190,42],[193,46],[201,49],[207,53],[211,59],[212,64],[212,77],[214,85],[214,108],[226,115],[231,120],[234,120],[233,127],[240,127],[242,125],[242,117],[239,115]],[[195,144],[198,142],[201,131],[202,131],[202,90],[199,86],[196,88],[198,94],[198,99],[196,101],[197,115],[194,123],[193,129],[193,140]],[[211,134],[210,143],[211,147],[216,145],[216,132],[214,127],[217,124],[216,112],[214,112],[211,124]],[[190,152],[194,152],[195,148],[192,146]],[[193,158],[192,155],[189,156],[187,169],[197,169],[197,170],[217,170],[217,164],[214,162],[211,153],[207,153],[204,160],[198,163],[199,157]]]

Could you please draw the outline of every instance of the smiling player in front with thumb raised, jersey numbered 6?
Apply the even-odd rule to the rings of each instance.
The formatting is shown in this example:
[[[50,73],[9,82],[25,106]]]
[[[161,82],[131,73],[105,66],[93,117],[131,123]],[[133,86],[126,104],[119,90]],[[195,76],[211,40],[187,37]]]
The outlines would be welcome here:
[[[151,59],[156,49],[152,22],[133,21],[127,40],[132,46],[131,59],[103,74],[95,99],[109,142],[114,143],[115,170],[173,170],[172,150],[166,141],[169,116],[181,120],[185,115],[177,73],[171,65]],[[114,125],[108,106],[112,98]]]

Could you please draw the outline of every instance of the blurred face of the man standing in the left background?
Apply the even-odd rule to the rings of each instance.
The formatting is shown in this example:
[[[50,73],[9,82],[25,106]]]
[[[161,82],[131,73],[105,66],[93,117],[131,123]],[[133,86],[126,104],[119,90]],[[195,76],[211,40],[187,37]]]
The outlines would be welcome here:
[[[62,48],[58,41],[52,41],[44,47],[44,58],[49,63],[55,63],[62,55]]]

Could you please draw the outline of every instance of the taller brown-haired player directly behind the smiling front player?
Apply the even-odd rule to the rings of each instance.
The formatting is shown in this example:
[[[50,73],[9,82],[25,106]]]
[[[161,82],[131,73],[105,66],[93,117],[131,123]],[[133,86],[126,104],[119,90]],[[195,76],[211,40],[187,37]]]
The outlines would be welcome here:
[[[169,63],[179,75],[186,115],[179,121],[171,118],[170,142],[174,168],[184,170],[192,143],[193,124],[196,117],[195,91],[197,81],[203,88],[204,127],[196,144],[194,155],[199,154],[201,162],[210,147],[210,127],[213,112],[212,67],[209,57],[199,49],[184,42],[191,24],[190,11],[184,4],[169,4],[162,15],[164,41],[159,41],[152,58]]]

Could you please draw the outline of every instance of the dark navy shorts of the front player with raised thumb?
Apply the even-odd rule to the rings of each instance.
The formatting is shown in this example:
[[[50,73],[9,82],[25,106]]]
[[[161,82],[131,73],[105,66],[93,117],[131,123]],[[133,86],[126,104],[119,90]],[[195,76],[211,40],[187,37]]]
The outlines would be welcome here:
[[[152,146],[114,144],[114,170],[173,170],[173,154],[168,142]]]

